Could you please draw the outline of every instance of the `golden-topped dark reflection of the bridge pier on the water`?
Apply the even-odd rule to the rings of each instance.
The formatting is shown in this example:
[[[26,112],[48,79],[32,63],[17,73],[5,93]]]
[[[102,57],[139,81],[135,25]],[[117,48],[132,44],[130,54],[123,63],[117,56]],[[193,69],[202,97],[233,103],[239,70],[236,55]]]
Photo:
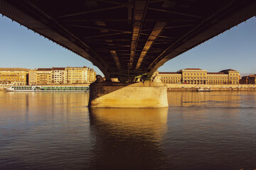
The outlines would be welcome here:
[[[168,108],[92,108],[96,169],[163,169]],[[99,157],[100,156],[100,157]]]

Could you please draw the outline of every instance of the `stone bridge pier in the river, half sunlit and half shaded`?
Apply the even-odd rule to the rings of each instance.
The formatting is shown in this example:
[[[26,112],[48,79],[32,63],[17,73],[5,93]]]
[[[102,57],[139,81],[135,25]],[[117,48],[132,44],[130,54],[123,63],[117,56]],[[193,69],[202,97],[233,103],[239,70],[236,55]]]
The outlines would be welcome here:
[[[152,81],[134,84],[104,82],[90,85],[92,108],[165,108],[166,86]]]

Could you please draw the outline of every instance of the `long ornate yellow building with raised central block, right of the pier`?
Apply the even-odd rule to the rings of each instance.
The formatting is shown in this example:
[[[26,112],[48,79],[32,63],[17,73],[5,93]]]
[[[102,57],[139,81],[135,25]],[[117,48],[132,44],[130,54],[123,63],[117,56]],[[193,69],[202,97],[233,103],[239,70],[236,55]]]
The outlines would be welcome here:
[[[239,84],[239,72],[234,69],[225,69],[220,72],[207,72],[198,68],[187,68],[178,72],[158,72],[161,81],[166,84]]]

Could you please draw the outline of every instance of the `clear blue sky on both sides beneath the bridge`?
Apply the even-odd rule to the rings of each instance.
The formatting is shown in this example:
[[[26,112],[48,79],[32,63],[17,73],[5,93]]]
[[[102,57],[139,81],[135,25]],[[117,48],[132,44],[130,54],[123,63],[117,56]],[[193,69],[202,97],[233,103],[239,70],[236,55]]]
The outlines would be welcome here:
[[[160,72],[201,68],[208,72],[236,69],[240,74],[256,74],[256,18],[253,17],[225,33],[169,60]],[[97,67],[37,33],[0,17],[0,67]]]

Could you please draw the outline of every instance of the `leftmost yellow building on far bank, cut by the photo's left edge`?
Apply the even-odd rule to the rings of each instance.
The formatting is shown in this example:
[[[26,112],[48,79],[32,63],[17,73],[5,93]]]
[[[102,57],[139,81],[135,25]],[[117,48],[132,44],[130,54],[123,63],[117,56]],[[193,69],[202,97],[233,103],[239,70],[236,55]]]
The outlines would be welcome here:
[[[22,68],[0,68],[0,84],[26,86],[28,70]]]

